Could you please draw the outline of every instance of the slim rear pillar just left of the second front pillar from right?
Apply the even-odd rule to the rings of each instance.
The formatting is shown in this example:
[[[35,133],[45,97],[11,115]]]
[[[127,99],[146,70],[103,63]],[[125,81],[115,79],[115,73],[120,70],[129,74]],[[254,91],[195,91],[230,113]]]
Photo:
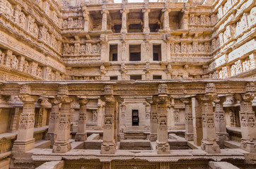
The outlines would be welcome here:
[[[194,138],[192,102],[190,99],[181,99],[181,101],[185,104],[185,139],[192,141]]]

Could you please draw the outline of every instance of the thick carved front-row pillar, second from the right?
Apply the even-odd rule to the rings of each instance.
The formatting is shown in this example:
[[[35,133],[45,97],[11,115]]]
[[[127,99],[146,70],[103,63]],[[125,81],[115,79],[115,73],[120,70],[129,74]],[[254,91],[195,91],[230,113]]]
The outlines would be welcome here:
[[[202,101],[203,139],[201,149],[209,154],[221,153],[219,145],[216,143],[216,128],[212,103],[216,99],[216,94],[199,95],[198,98]]]

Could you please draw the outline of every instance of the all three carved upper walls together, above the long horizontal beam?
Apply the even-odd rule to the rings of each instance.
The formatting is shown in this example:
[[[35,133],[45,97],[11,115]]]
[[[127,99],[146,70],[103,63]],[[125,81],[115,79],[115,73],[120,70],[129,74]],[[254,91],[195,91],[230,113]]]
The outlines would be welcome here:
[[[134,70],[146,79],[226,78],[255,68],[252,0],[2,0],[0,13],[0,65],[32,79],[126,79]]]

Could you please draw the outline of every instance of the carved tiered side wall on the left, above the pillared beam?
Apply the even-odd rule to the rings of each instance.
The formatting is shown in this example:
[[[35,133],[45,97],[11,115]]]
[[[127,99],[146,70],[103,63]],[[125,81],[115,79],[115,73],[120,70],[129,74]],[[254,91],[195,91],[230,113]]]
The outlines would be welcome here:
[[[58,3],[0,1],[0,80],[64,78]]]

